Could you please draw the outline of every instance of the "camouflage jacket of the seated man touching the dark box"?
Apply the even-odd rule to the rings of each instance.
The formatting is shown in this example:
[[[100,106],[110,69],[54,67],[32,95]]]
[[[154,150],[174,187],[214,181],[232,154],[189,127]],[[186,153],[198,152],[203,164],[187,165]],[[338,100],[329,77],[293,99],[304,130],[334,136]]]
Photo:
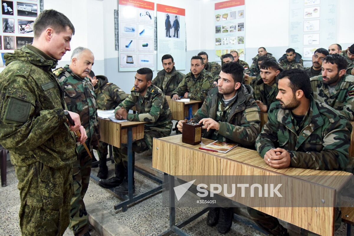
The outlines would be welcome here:
[[[211,118],[219,122],[219,130],[204,130],[203,137],[222,142],[239,143],[242,146],[254,145],[259,134],[259,108],[252,97],[252,88],[241,85],[236,92],[236,97],[225,107],[223,95],[218,93],[218,88],[208,92],[201,108],[194,114],[193,119],[200,121]]]

